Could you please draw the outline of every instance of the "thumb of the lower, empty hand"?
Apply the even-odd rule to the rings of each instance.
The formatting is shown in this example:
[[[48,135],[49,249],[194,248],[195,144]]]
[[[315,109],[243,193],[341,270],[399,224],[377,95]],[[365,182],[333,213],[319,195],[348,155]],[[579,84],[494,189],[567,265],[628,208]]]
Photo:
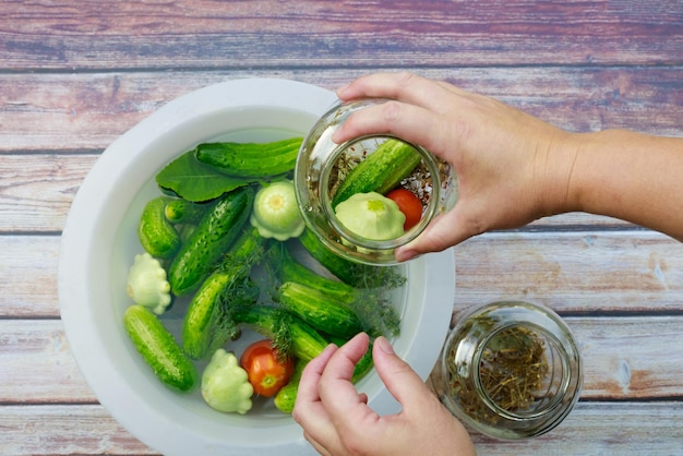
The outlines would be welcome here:
[[[398,358],[384,337],[378,337],[372,349],[374,368],[386,389],[406,409],[410,404],[421,404],[431,392],[410,365]]]

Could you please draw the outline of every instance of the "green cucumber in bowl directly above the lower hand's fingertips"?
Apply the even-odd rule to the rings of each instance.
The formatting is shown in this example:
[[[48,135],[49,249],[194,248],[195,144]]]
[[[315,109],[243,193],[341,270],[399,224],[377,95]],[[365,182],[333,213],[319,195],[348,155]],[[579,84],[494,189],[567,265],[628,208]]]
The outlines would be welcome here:
[[[363,331],[356,313],[344,302],[296,281],[278,290],[280,304],[321,333],[351,338]]]

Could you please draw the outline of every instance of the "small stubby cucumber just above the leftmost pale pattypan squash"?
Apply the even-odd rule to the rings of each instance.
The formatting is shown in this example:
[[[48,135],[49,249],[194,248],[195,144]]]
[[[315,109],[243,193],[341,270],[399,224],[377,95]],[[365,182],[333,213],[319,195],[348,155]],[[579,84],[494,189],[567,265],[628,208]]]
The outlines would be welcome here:
[[[168,196],[149,200],[137,224],[137,238],[143,249],[161,260],[171,259],[181,245],[180,235],[164,215],[164,208],[170,200]]]

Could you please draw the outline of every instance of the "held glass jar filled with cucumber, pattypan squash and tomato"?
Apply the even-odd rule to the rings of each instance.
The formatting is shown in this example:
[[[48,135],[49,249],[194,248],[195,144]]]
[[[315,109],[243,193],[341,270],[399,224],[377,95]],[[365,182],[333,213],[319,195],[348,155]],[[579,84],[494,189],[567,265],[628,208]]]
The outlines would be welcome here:
[[[352,112],[382,99],[338,104],[304,139],[295,168],[303,220],[334,253],[358,263],[395,264],[394,251],[418,237],[457,197],[450,164],[391,135],[332,141]]]

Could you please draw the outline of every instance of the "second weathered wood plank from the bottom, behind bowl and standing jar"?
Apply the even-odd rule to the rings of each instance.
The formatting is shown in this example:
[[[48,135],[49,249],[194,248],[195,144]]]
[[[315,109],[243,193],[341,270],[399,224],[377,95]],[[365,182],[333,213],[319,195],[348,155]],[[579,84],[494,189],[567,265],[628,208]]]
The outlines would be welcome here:
[[[584,399],[683,396],[683,317],[567,317],[582,348]],[[95,403],[59,320],[0,320],[0,403]]]

